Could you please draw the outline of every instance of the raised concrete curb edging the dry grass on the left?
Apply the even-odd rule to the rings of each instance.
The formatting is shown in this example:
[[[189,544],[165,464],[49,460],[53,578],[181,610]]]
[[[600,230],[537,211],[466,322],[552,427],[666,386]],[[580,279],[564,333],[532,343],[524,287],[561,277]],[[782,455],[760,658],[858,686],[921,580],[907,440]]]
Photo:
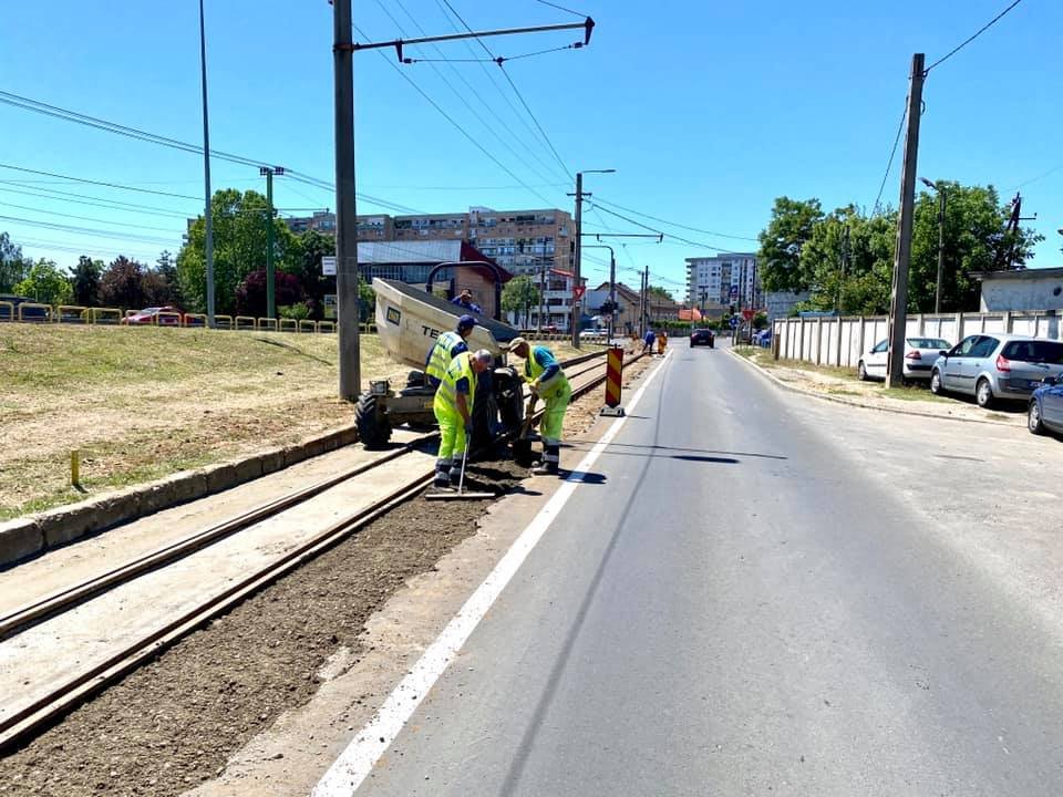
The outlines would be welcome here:
[[[282,470],[357,439],[358,431],[353,426],[344,426],[293,446],[274,448],[246,459],[183,470],[145,485],[0,522],[0,568],[118,524]]]

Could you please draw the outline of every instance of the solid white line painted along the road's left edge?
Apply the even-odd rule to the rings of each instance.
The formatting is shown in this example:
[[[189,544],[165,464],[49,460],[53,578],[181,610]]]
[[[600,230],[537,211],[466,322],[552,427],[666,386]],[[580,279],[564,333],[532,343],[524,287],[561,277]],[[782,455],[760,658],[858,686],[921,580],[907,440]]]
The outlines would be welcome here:
[[[672,352],[665,353],[661,365],[671,354]],[[661,370],[661,368],[654,369],[642,386],[636,391],[628,403],[629,413],[634,411],[646,389],[650,386],[650,383]],[[627,416],[623,416],[612,422],[601,439],[595,444],[595,447],[565,479],[565,484],[558,488],[557,493],[546,503],[546,506],[533,518],[528,527],[520,532],[520,536],[495,566],[495,569],[465,601],[465,605],[446,624],[446,628],[436,636],[435,641],[429,645],[417,663],[413,665],[410,674],[399,682],[394,691],[388,695],[388,700],[384,701],[380,711],[351,741],[340,754],[340,757],[332,763],[329,770],[314,786],[312,797],[351,797],[362,785],[376,762],[380,760],[380,757],[391,746],[391,743],[394,742],[410,717],[413,716],[424,695],[429,693],[440,675],[454,661],[457,652],[498,596],[502,594],[506,584],[516,575],[528,553],[532,552],[550,524],[560,514],[561,508],[580,484],[580,478],[594,466],[595,460],[617,436],[626,421]]]

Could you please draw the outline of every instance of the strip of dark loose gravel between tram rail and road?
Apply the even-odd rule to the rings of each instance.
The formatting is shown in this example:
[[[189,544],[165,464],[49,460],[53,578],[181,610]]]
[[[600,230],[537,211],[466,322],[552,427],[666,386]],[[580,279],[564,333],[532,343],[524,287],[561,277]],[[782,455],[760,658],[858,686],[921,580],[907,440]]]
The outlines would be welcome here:
[[[626,382],[651,364],[630,366]],[[598,391],[570,406],[566,436],[597,418]],[[471,466],[471,486],[505,491],[527,472]],[[486,503],[423,498],[365,527],[138,670],[0,760],[0,794],[177,795],[283,711],[306,703],[342,648],[360,655],[367,619],[411,577],[472,535]]]

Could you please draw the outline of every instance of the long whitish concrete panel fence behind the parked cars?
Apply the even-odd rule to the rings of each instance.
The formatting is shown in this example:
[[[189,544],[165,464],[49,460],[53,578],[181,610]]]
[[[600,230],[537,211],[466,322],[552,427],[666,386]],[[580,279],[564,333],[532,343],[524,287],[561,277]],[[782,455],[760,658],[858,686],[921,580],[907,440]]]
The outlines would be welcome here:
[[[1060,318],[1053,310],[947,315],[919,313],[908,317],[907,335],[942,338],[950,345],[980,332],[1063,340]],[[772,348],[777,359],[856,368],[861,354],[887,338],[889,319],[885,315],[777,319],[772,330]]]

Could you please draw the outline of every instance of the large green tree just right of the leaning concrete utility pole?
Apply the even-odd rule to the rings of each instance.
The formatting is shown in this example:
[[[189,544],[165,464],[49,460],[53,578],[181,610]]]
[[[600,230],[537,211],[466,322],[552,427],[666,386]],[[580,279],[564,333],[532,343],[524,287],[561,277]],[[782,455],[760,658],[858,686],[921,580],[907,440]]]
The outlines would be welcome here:
[[[942,312],[974,310],[979,282],[969,275],[1016,266],[1033,257],[1033,247],[1044,237],[1032,229],[1005,232],[1010,206],[1002,206],[993,186],[939,183],[946,190],[945,269],[941,282]],[[938,196],[921,192],[916,198],[911,234],[908,307],[914,312],[933,312],[938,281]]]

